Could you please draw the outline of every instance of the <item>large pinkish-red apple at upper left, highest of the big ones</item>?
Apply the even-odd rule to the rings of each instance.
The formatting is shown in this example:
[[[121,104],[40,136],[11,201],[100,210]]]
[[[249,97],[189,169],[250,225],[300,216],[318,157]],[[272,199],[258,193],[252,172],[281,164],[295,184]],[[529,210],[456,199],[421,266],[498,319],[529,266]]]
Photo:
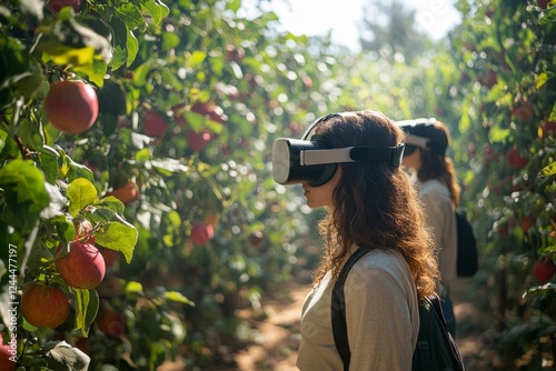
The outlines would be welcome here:
[[[58,81],[44,98],[44,112],[58,130],[80,134],[97,120],[99,101],[95,89],[82,81]]]

